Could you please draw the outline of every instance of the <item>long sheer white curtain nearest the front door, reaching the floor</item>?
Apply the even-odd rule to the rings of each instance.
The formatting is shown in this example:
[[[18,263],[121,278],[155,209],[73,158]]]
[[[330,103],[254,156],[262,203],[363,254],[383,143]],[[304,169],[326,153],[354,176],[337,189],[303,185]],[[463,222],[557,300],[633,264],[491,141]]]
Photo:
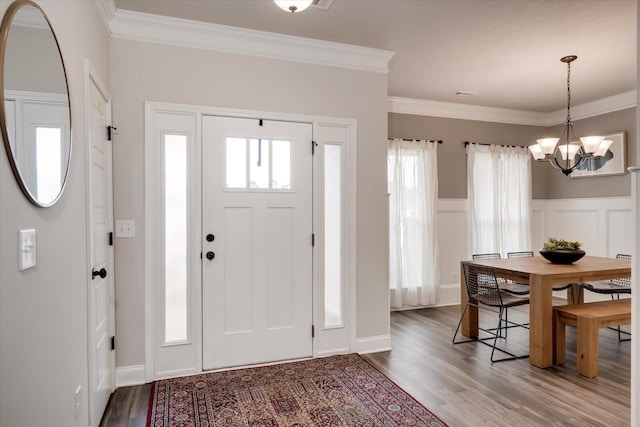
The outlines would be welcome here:
[[[389,141],[391,308],[437,302],[437,143]]]

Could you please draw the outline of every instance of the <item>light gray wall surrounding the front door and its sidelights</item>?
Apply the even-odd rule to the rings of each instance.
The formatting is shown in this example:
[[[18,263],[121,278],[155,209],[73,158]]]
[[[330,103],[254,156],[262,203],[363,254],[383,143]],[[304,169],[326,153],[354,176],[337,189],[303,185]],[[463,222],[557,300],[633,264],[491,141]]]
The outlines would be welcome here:
[[[144,363],[144,102],[162,101],[358,121],[357,337],[389,333],[387,76],[335,67],[113,39],[118,366]]]

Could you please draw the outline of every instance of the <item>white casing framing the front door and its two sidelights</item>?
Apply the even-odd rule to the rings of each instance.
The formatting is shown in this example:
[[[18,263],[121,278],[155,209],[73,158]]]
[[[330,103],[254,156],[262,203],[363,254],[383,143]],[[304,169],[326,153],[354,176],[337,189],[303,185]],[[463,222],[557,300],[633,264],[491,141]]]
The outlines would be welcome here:
[[[156,333],[156,322],[158,321],[158,297],[154,286],[157,279],[157,260],[156,253],[157,242],[154,241],[154,233],[159,230],[158,218],[155,214],[158,203],[158,186],[157,174],[154,172],[157,168],[157,129],[158,116],[163,114],[175,114],[182,116],[190,116],[195,118],[196,125],[194,132],[197,133],[201,142],[202,116],[226,116],[239,118],[261,118],[265,120],[276,121],[293,121],[311,123],[313,126],[314,141],[318,144],[317,149],[321,150],[323,143],[343,144],[343,175],[344,188],[342,200],[344,203],[343,213],[343,229],[341,234],[344,264],[342,271],[343,282],[343,314],[344,322],[340,326],[324,327],[323,326],[323,306],[324,294],[322,290],[322,237],[318,233],[322,233],[322,208],[323,196],[322,180],[320,173],[314,174],[313,187],[320,190],[314,194],[313,200],[313,229],[316,233],[316,246],[313,254],[313,322],[315,325],[315,338],[313,340],[313,356],[326,356],[331,354],[341,354],[356,349],[356,143],[357,143],[357,122],[354,119],[311,116],[303,114],[278,113],[268,111],[255,110],[238,110],[218,107],[203,107],[194,105],[163,103],[163,102],[146,102],[145,103],[145,365],[144,377],[145,381],[153,381],[159,378],[165,378],[175,375],[186,375],[190,373],[202,372],[202,307],[195,304],[192,307],[193,321],[191,329],[191,339],[189,343],[185,343],[189,350],[183,354],[187,354],[190,360],[194,362],[189,367],[180,367],[178,370],[172,370],[163,363],[162,357],[158,356],[160,343],[158,342],[158,334]],[[314,170],[320,167],[315,165],[321,156],[314,157]],[[198,171],[198,174],[200,172]],[[200,190],[198,190],[200,191]],[[201,238],[202,230],[194,233],[198,239]],[[200,240],[198,240],[200,241]],[[320,243],[318,243],[320,242]],[[200,260],[198,260],[199,262]],[[191,287],[191,301],[200,302],[202,300],[202,286]],[[166,347],[166,346],[165,346]],[[177,350],[177,347],[175,348]]]

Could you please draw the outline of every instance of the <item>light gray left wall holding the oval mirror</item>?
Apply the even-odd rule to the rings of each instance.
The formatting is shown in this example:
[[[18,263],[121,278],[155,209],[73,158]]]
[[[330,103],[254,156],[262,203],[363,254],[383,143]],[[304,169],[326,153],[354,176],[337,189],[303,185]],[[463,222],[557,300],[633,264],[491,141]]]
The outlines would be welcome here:
[[[84,59],[108,85],[109,35],[94,2],[38,3],[67,66],[73,154],[65,192],[47,209],[27,201],[0,156],[0,426],[87,426]],[[7,6],[0,3],[2,14]],[[37,232],[37,266],[19,272],[17,234],[25,228]]]

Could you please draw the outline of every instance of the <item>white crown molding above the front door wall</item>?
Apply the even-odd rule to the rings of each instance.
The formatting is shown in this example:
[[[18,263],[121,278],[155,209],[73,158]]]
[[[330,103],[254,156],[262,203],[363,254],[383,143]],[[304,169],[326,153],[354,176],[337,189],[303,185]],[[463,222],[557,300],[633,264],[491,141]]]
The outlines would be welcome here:
[[[389,73],[395,52],[117,9],[112,37]]]

